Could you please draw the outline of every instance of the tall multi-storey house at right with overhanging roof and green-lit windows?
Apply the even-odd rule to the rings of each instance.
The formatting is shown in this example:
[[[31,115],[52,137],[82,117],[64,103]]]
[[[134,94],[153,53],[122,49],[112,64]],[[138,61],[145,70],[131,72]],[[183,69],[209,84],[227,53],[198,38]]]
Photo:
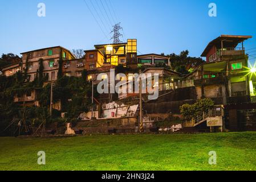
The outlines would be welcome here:
[[[197,98],[212,98],[218,104],[230,104],[238,99],[250,101],[249,77],[246,76],[248,56],[243,42],[251,36],[221,35],[202,52],[206,63],[188,77],[194,79]],[[237,47],[241,44],[241,47]]]

